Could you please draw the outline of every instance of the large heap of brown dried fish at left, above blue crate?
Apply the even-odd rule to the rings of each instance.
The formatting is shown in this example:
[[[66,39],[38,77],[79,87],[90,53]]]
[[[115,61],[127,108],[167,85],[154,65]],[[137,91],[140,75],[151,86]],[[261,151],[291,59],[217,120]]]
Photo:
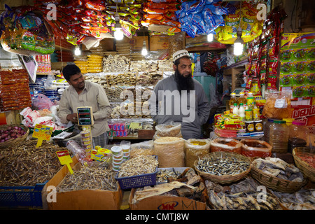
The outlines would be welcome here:
[[[43,141],[36,148],[37,141],[22,143],[1,149],[0,186],[35,186],[45,183],[62,167],[56,151],[61,147]]]

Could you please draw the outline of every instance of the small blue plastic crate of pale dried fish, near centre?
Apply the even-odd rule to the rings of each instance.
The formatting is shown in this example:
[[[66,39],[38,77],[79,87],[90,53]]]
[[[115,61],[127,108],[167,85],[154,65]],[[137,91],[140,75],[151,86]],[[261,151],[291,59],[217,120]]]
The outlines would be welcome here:
[[[156,159],[158,159],[155,156]],[[155,172],[151,174],[141,174],[136,176],[127,176],[127,177],[119,177],[118,173],[115,176],[115,179],[118,181],[120,188],[122,190],[130,189],[130,188],[141,188],[145,186],[153,186],[156,183],[156,173],[158,172],[158,167],[156,167]]]

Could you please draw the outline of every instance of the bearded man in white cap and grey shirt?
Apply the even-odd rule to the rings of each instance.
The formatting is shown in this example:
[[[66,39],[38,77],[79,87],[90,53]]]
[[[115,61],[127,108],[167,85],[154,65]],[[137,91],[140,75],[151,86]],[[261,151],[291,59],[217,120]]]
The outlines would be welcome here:
[[[175,73],[160,80],[149,99],[151,116],[159,125],[181,123],[183,139],[200,139],[210,113],[207,96],[192,77],[188,51],[175,52],[173,62]]]

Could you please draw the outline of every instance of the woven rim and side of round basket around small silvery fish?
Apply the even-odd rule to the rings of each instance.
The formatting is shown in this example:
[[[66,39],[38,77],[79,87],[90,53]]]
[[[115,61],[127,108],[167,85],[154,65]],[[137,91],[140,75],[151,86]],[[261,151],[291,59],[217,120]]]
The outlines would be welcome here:
[[[202,158],[205,157],[212,157],[212,158],[237,158],[240,161],[248,162],[250,165],[248,169],[245,172],[242,172],[241,174],[235,174],[235,175],[214,175],[214,174],[209,174],[207,172],[201,172],[199,169],[197,169],[197,164],[198,160],[195,160],[194,166],[195,166],[195,171],[200,174],[204,179],[207,179],[209,181],[213,181],[215,183],[220,183],[220,184],[228,184],[228,183],[233,183],[237,182],[241,179],[243,179],[249,172],[251,172],[251,160],[249,158],[246,158],[244,155],[240,155],[238,153],[228,153],[228,152],[213,152],[204,155]],[[200,158],[202,160],[202,158]]]

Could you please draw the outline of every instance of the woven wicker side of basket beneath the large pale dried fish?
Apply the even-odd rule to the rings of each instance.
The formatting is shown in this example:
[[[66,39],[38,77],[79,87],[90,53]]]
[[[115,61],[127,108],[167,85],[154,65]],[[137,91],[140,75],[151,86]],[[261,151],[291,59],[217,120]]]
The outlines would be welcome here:
[[[295,193],[307,183],[307,179],[305,178],[302,182],[279,179],[276,176],[262,172],[262,170],[255,167],[255,165],[251,167],[251,176],[263,186],[282,193]]]

